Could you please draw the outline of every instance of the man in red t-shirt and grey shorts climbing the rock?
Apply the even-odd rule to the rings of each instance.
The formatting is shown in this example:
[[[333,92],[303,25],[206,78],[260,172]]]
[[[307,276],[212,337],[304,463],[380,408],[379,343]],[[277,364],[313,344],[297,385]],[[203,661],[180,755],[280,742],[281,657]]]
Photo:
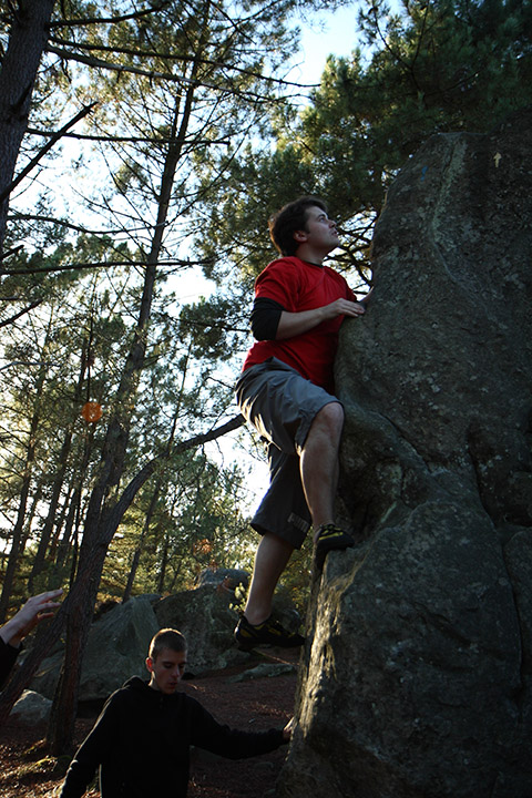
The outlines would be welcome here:
[[[334,362],[344,318],[362,316],[369,296],[358,301],[344,277],[324,266],[339,238],[321,200],[305,196],[285,205],[270,218],[269,233],[282,257],[255,283],[252,330],[257,340],[236,385],[242,415],[268,446],[270,472],[252,521],[262,539],[235,630],[244,649],[303,644],[270,613],[277,581],[310,524],[318,571],[329,551],[354,544],[334,512],[344,426]]]

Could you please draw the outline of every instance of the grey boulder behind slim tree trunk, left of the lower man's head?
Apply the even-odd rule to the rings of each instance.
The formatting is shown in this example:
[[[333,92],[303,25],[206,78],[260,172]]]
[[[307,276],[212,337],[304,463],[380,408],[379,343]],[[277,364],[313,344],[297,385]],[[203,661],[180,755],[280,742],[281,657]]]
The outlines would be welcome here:
[[[106,698],[130,676],[147,678],[147,648],[160,625],[152,596],[136,596],[117,604],[92,625],[80,682],[80,702]],[[48,657],[31,686],[53,698],[63,653]]]

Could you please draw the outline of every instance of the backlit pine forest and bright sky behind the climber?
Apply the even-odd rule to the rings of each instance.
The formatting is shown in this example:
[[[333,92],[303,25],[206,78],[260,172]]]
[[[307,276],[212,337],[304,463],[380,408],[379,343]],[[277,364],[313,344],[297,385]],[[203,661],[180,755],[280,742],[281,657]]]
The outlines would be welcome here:
[[[298,84],[300,28],[340,7],[352,53]],[[263,456],[232,386],[253,282],[275,256],[269,214],[325,197],[342,242],[331,260],[366,291],[374,225],[406,160],[433,133],[483,133],[530,104],[532,6],[0,9],[0,622],[29,593],[66,593],[0,712],[64,635],[60,751],[96,602],[252,566],[245,463]],[[187,301],[205,279],[211,295]],[[306,549],[285,581],[304,604]]]

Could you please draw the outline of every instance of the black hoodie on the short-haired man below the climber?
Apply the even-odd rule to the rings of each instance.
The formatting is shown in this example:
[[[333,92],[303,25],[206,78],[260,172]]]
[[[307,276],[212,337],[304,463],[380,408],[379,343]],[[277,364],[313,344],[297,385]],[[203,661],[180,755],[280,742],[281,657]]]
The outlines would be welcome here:
[[[61,798],[80,798],[99,766],[102,798],[185,798],[191,745],[241,759],[283,741],[280,729],[222,726],[194,698],[164,695],[134,676],[108,699],[70,765]]]

